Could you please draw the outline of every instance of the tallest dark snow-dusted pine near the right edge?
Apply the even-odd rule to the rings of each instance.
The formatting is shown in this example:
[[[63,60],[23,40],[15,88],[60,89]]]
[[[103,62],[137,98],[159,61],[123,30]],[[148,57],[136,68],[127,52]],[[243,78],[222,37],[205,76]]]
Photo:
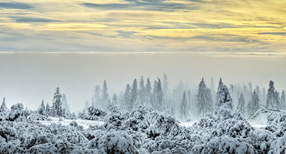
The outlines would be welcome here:
[[[266,96],[266,107],[271,110],[278,109],[278,106],[275,102],[275,88],[274,88],[274,82],[271,80],[269,81],[269,88],[267,90],[267,96]]]

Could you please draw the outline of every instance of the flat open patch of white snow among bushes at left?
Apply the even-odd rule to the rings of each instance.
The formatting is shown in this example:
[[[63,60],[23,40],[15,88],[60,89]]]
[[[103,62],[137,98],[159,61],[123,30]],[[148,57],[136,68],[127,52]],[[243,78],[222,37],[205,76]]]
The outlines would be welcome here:
[[[59,121],[59,118],[57,117],[50,117],[51,121],[47,121],[47,120],[35,120],[35,121],[39,121],[41,123],[43,123],[44,125],[50,125],[51,123],[61,123],[62,125],[66,126],[69,125],[69,123],[71,123],[72,121],[76,121],[76,123],[78,123],[78,125],[82,125],[84,127],[84,129],[87,129],[89,127],[89,125],[102,125],[104,122],[103,121],[94,121],[94,120],[85,120],[85,119],[63,119],[63,121]]]

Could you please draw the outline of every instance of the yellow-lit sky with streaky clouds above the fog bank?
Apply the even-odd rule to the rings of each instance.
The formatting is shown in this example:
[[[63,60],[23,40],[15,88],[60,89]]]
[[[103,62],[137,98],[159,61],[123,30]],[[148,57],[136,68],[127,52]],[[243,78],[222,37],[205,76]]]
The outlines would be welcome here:
[[[285,0],[1,0],[0,52],[285,52],[285,23]]]

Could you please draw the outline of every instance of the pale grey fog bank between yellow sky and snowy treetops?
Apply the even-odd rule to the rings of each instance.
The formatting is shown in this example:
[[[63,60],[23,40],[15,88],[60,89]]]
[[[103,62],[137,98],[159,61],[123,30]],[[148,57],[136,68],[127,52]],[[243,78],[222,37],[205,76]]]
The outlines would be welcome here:
[[[180,78],[190,88],[198,85],[202,77],[210,86],[213,76],[215,88],[219,78],[229,84],[252,82],[253,89],[268,89],[270,80],[275,90],[286,90],[286,53],[96,53],[96,52],[0,52],[0,98],[5,97],[7,107],[22,103],[37,110],[41,101],[52,105],[55,88],[65,94],[71,112],[91,104],[95,86],[103,88],[106,80],[110,98],[119,95],[126,84],[130,86],[140,76],[150,78],[151,85],[158,77],[163,82],[167,74],[169,88],[174,89]],[[182,94],[179,94],[182,95]],[[2,100],[1,100],[2,102]]]

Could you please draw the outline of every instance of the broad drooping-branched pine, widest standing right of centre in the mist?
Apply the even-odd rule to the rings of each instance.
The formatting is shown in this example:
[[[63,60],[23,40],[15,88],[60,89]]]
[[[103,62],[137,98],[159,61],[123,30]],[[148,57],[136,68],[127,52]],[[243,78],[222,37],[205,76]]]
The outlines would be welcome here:
[[[198,87],[197,102],[196,102],[198,117],[203,117],[205,113],[211,112],[210,108],[212,107],[212,105],[210,106],[211,103],[209,101],[212,100],[212,98],[211,97],[209,98],[209,95],[211,94],[208,94],[210,93],[210,90],[208,92],[207,89],[208,88],[206,88],[206,85],[204,84],[204,78],[202,78],[202,81],[200,82]]]

